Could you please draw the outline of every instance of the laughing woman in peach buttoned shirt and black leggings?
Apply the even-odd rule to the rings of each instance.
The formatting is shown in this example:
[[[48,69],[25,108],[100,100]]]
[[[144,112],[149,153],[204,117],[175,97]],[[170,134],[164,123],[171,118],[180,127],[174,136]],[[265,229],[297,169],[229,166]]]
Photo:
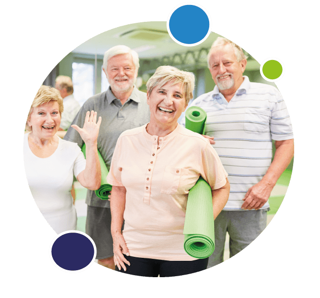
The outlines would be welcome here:
[[[177,122],[193,88],[191,72],[160,66],[147,82],[150,122],[117,141],[107,180],[113,185],[111,233],[120,272],[171,277],[207,267],[208,258],[196,259],[183,248],[188,192],[202,176],[212,188],[216,218],[230,185],[209,140]]]

